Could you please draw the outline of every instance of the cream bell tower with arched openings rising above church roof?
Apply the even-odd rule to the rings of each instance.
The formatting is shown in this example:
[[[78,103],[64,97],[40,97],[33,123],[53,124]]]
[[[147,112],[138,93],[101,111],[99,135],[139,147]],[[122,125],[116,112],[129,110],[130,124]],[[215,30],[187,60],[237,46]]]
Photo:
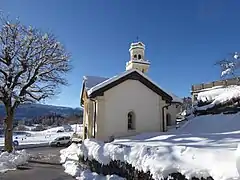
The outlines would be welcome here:
[[[150,66],[150,62],[145,60],[145,45],[142,42],[131,43],[129,52],[130,60],[126,63],[126,70],[138,69],[142,73],[146,73]]]

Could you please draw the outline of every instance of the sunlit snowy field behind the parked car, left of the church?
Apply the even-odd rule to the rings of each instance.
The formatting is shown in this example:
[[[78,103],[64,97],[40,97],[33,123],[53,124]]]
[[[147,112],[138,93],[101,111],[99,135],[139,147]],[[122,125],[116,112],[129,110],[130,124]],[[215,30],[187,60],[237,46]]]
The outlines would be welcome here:
[[[73,131],[70,132],[57,133],[58,130],[64,130],[62,126],[50,128],[44,131],[26,131],[26,133],[29,133],[31,136],[17,135],[13,137],[13,140],[17,140],[19,145],[44,144],[49,143],[59,136],[72,136],[74,132],[79,134],[82,133],[81,124],[74,124],[71,126],[74,128]],[[0,146],[4,146],[4,138],[0,138]]]

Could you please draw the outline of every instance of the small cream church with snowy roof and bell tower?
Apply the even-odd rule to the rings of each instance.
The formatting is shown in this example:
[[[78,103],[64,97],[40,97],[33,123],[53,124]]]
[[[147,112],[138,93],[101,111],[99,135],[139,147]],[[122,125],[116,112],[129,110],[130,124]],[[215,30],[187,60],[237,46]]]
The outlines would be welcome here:
[[[150,62],[145,59],[142,42],[131,43],[129,52],[124,72],[110,78],[83,77],[83,139],[109,141],[143,132],[164,132],[175,125],[182,100],[146,75]]]

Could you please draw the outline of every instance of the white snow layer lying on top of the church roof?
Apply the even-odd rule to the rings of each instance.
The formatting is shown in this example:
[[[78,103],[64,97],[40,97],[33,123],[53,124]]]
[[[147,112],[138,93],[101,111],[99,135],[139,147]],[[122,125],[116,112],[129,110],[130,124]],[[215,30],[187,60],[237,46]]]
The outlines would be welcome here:
[[[106,85],[132,73],[136,71],[138,74],[140,74],[141,76],[143,76],[145,79],[147,79],[148,81],[150,81],[152,84],[154,84],[155,86],[159,87],[160,89],[162,89],[166,94],[168,94],[169,96],[171,96],[173,98],[172,102],[179,102],[182,103],[182,99],[178,98],[176,95],[169,93],[167,91],[165,91],[163,88],[161,88],[157,83],[155,83],[154,81],[152,81],[148,76],[146,76],[144,73],[142,73],[141,71],[137,70],[137,69],[131,69],[131,70],[127,70],[119,75],[113,76],[111,78],[106,78],[106,77],[97,77],[97,76],[84,76],[84,81],[85,81],[85,88],[87,90],[87,94],[88,96],[90,96],[92,93],[96,92],[97,90],[99,90],[102,87],[105,87]]]

